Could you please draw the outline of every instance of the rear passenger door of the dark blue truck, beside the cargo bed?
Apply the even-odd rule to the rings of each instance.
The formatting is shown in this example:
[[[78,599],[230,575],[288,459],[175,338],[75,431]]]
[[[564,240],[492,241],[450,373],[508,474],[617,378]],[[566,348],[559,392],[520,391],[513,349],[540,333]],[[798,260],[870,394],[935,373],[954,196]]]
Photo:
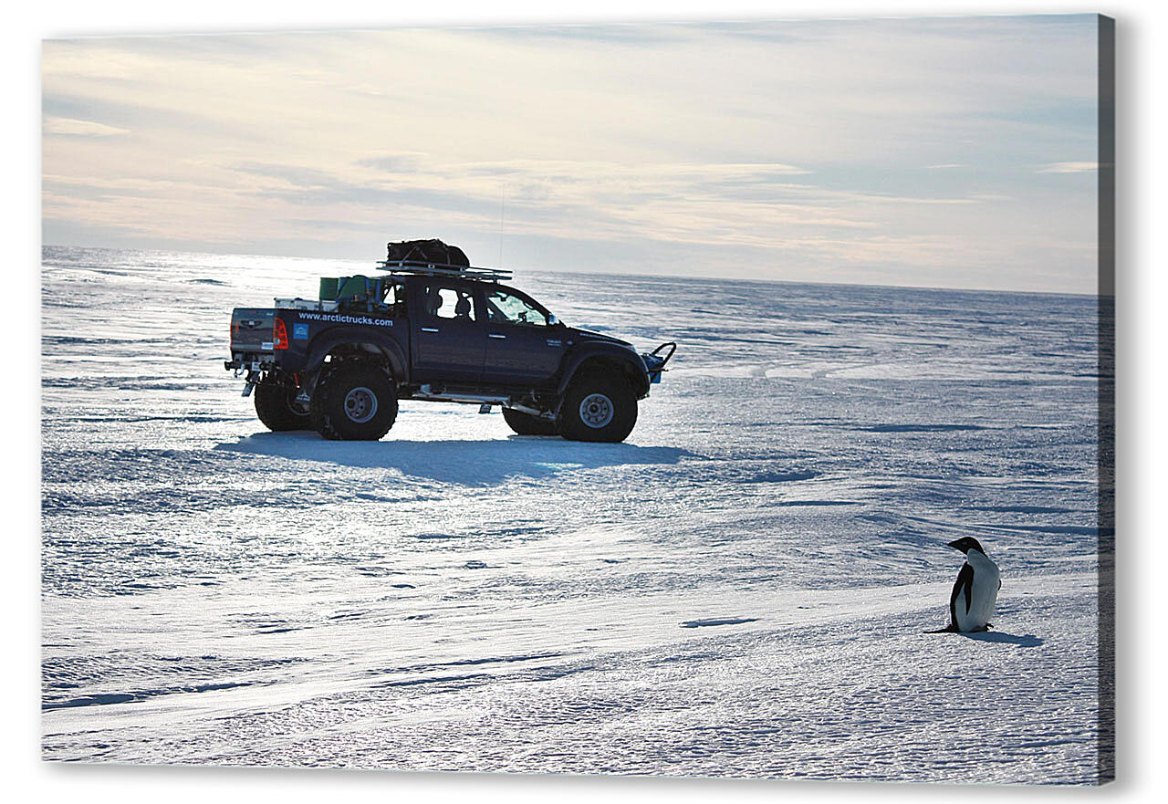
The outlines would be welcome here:
[[[478,383],[486,337],[473,286],[426,277],[412,291],[413,376],[420,382]]]

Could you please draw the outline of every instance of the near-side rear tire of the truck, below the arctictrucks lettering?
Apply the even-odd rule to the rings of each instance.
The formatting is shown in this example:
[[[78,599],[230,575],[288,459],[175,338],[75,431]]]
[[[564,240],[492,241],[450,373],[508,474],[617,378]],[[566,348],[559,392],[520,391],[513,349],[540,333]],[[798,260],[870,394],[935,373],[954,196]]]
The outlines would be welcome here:
[[[317,386],[312,418],[325,438],[377,441],[397,418],[394,381],[380,366],[339,366]]]

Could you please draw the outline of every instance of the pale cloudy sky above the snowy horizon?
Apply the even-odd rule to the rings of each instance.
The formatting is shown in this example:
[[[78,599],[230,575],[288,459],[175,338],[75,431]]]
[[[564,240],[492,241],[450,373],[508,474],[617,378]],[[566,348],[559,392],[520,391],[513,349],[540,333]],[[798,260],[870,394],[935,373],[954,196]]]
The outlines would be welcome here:
[[[47,245],[1093,293],[1097,18],[49,40]]]

